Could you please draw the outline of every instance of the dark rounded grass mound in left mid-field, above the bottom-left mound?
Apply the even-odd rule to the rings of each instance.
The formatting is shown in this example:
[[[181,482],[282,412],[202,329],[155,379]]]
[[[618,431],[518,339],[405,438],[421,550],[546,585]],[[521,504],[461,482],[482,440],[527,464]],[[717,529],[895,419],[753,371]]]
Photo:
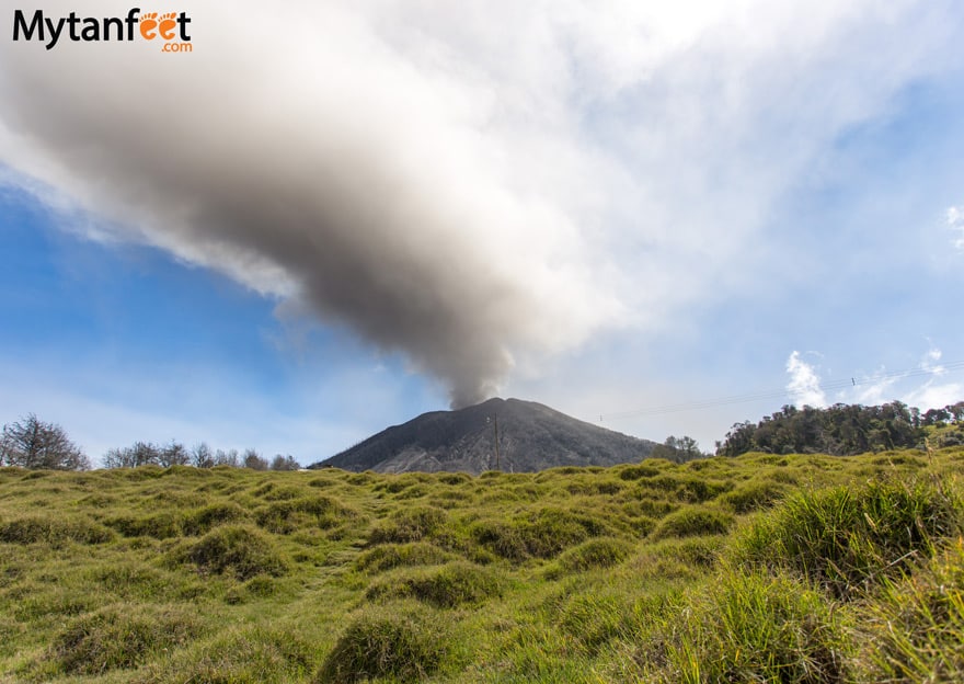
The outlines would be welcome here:
[[[242,581],[262,573],[279,577],[288,569],[275,544],[250,525],[216,527],[176,557],[193,562],[202,573],[232,573]]]

